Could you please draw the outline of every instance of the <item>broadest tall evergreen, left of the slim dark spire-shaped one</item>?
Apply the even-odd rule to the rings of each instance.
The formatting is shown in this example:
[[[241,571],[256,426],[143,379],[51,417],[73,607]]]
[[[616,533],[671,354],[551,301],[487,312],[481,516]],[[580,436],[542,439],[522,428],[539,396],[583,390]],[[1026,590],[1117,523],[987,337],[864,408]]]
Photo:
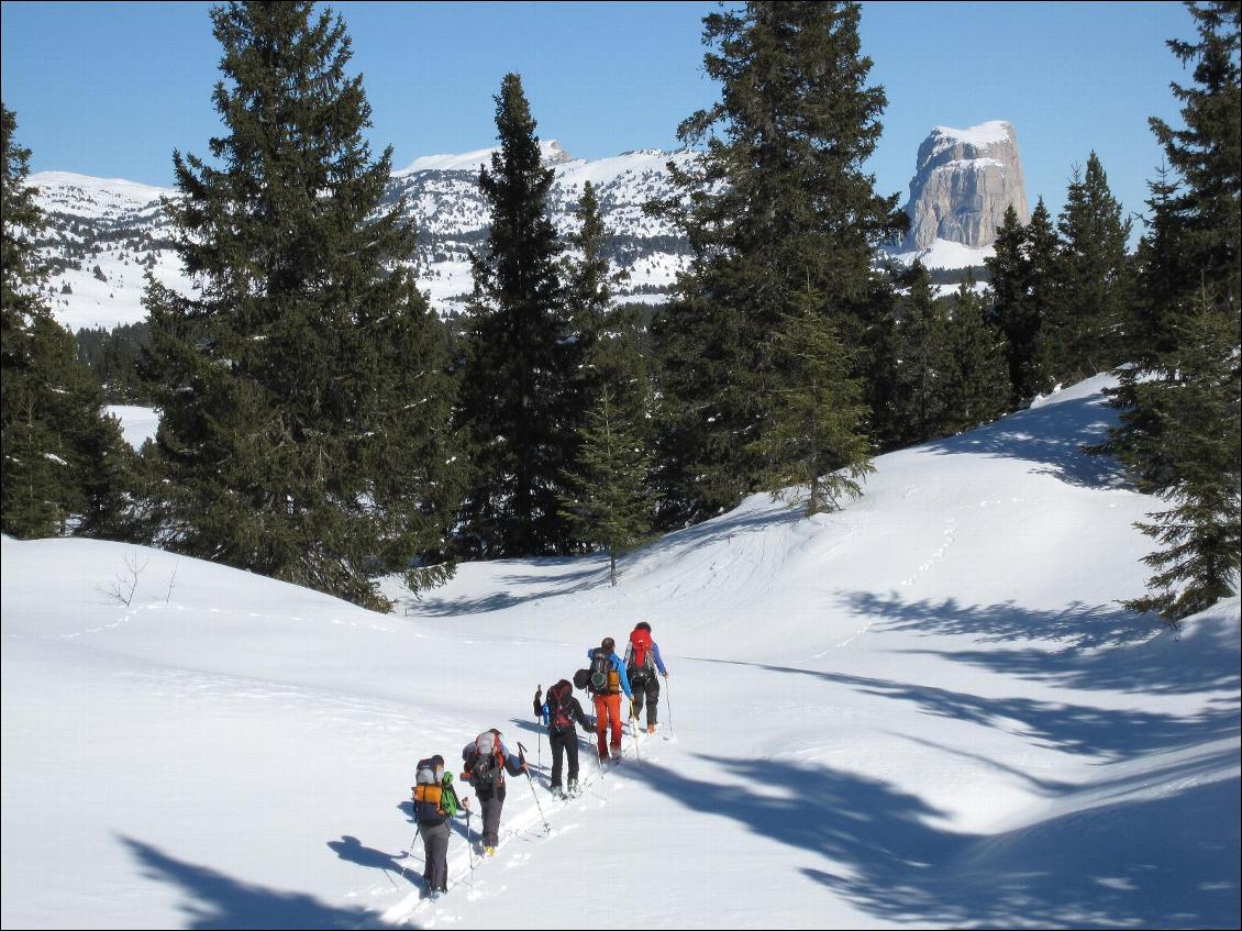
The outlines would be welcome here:
[[[456,504],[442,336],[400,263],[404,205],[380,210],[391,149],[371,160],[339,16],[299,0],[211,19],[219,168],[174,153],[165,202],[201,292],[147,292],[160,537],[386,608],[371,576],[436,554]]]

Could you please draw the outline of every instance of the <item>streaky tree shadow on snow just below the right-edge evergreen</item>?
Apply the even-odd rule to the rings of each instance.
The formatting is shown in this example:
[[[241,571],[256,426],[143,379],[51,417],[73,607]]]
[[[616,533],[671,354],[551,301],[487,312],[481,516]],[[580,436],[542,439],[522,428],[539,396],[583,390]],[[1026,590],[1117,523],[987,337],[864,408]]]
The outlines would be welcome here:
[[[1058,611],[1035,611],[1013,602],[961,605],[954,598],[910,602],[897,592],[887,597],[848,592],[843,601],[851,612],[876,618],[881,629],[961,634],[979,643],[1035,639],[1064,644],[1059,650],[1037,645],[951,653],[925,650],[928,655],[1027,680],[1144,694],[1242,686],[1237,639],[1222,624],[1187,629],[1180,643],[1159,643],[1161,638],[1171,638],[1171,632],[1117,606],[1071,602]]]

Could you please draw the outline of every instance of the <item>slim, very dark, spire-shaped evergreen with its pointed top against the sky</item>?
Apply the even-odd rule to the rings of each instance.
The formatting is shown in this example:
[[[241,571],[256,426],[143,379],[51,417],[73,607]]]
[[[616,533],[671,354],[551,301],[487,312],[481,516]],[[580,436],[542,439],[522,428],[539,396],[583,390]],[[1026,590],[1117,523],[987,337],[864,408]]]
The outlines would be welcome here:
[[[568,339],[560,243],[548,212],[553,171],[540,161],[518,74],[501,83],[496,127],[501,145],[479,176],[492,222],[473,257],[461,412],[473,478],[458,530],[466,551],[487,557],[569,547],[558,501],[581,417],[565,403],[581,353]]]

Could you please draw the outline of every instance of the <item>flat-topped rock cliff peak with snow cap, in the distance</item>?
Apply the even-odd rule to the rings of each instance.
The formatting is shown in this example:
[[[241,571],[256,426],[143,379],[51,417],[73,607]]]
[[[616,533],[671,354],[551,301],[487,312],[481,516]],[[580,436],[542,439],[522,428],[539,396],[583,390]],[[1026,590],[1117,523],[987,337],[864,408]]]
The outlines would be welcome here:
[[[1011,204],[1023,223],[1031,218],[1012,124],[936,127],[919,146],[905,205],[910,231],[899,251],[925,250],[936,240],[991,246]]]

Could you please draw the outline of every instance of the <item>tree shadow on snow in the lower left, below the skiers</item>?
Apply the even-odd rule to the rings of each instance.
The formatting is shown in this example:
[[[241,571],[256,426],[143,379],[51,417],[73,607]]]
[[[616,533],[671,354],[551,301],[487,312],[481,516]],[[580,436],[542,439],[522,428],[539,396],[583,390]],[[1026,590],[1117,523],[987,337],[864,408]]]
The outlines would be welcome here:
[[[140,840],[120,837],[143,866],[143,875],[179,888],[185,927],[193,929],[340,929],[386,927],[363,909],[342,909],[304,893],[245,883],[209,866],[168,855]]]

